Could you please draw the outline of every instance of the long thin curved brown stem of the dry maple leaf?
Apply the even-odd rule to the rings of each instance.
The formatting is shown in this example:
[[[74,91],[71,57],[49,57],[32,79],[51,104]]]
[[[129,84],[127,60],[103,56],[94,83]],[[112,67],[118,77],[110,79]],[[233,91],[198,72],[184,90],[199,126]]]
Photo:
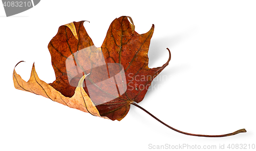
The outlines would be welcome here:
[[[147,114],[149,114],[150,116],[152,116],[154,119],[156,119],[157,121],[159,121],[160,123],[164,124],[165,126],[169,127],[170,129],[176,131],[176,132],[179,132],[179,133],[182,133],[182,134],[185,134],[185,135],[191,135],[191,136],[199,136],[199,137],[226,137],[226,136],[231,136],[231,135],[236,135],[236,134],[239,134],[239,133],[245,133],[246,130],[243,128],[241,130],[238,130],[236,132],[233,132],[233,133],[229,133],[229,134],[224,134],[224,135],[201,135],[201,134],[190,134],[190,133],[186,133],[186,132],[182,132],[182,131],[179,131],[167,124],[165,124],[164,122],[162,122],[161,120],[159,120],[157,117],[155,117],[153,114],[151,114],[150,112],[146,111],[143,107],[141,107],[140,105],[132,102],[131,104],[133,104],[134,106],[136,107],[139,107],[141,110],[143,110],[144,112],[146,112]]]

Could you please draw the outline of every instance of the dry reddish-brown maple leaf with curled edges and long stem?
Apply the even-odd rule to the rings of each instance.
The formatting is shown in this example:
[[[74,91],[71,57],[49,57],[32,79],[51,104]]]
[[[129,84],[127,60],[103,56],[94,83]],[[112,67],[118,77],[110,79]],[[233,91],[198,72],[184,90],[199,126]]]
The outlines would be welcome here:
[[[121,16],[111,23],[102,46],[96,48],[83,22],[60,26],[48,45],[56,76],[54,82],[47,84],[40,80],[33,64],[28,82],[14,69],[14,87],[111,120],[123,119],[133,104],[163,123],[137,104],[143,100],[152,80],[170,61],[167,49],[167,62],[162,67],[148,68],[147,53],[154,25],[147,33],[138,34],[132,18]],[[226,135],[197,135],[163,124],[186,135],[204,137],[246,132],[242,129]]]

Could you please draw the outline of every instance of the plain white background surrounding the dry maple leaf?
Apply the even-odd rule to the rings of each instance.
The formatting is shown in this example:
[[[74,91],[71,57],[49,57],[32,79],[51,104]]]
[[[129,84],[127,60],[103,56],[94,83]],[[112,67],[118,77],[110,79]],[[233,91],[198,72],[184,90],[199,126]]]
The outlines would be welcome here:
[[[152,145],[256,144],[255,1],[41,1],[6,17],[0,6],[0,150],[155,150]],[[40,79],[55,80],[48,43],[58,27],[89,20],[84,27],[100,47],[111,22],[133,18],[142,34],[155,25],[149,67],[172,59],[139,103],[178,130],[225,138],[187,136],[131,106],[111,121],[16,90],[12,72],[28,80],[33,62]],[[185,150],[184,148],[183,150]],[[214,150],[217,150],[214,149]],[[168,150],[168,149],[164,149]],[[196,149],[194,149],[196,150]],[[209,149],[210,150],[210,149]]]

